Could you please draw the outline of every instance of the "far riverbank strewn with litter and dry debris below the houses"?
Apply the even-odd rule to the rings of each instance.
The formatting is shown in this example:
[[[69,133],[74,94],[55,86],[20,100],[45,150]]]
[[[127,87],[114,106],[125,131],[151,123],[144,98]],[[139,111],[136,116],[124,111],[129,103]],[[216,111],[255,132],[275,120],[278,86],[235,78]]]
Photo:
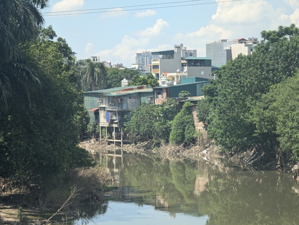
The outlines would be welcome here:
[[[90,153],[97,151],[113,151],[120,150],[120,146],[106,145],[106,142],[100,142],[96,140],[88,140],[80,143],[80,147],[88,150]],[[292,173],[293,178],[299,181],[298,176],[298,162],[288,159],[282,164],[278,164],[277,156],[275,152],[258,151],[257,149],[249,149],[244,152],[229,151],[222,152],[220,148],[212,145],[212,143],[206,139],[201,140],[200,145],[194,145],[189,148],[183,146],[177,146],[172,144],[164,144],[160,147],[152,146],[151,142],[142,142],[135,144],[127,144],[123,146],[123,151],[129,152],[151,152],[168,159],[203,159],[205,161],[211,161],[215,158],[225,158],[232,161],[238,166],[249,165],[256,170],[277,170],[286,173]]]

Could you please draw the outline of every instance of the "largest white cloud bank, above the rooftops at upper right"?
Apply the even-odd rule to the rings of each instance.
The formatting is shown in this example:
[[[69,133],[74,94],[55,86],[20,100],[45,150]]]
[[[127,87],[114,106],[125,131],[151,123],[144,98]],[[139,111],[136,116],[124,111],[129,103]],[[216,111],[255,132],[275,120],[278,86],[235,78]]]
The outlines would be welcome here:
[[[205,27],[174,36],[174,41],[177,43],[183,43],[187,49],[197,50],[197,56],[206,55],[208,41],[217,39],[230,41],[251,36],[259,38],[262,30],[274,30],[279,25],[289,26],[291,20],[297,24],[299,22],[299,9],[289,16],[285,8],[274,8],[269,0],[216,1],[217,11]]]

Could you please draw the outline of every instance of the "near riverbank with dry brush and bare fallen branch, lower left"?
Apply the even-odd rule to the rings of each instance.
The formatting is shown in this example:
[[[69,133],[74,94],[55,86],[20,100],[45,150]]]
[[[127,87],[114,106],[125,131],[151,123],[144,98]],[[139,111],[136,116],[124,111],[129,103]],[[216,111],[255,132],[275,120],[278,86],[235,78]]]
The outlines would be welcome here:
[[[18,224],[22,218],[26,221],[22,224],[62,223],[61,218],[83,218],[86,214],[80,211],[82,204],[103,203],[104,193],[113,189],[114,182],[115,178],[103,166],[71,170],[41,188],[0,178],[0,225]]]

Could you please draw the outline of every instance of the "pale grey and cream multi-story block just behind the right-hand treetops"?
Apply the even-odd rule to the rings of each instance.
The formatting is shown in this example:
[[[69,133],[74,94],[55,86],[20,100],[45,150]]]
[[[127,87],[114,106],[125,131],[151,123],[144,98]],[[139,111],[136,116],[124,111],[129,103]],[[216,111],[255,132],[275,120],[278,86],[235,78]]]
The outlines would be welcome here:
[[[231,58],[234,59],[242,53],[249,55],[254,50],[254,46],[259,43],[256,37],[248,39],[240,38],[231,41],[219,39],[209,41],[206,44],[206,57],[211,58],[212,65],[225,65]]]

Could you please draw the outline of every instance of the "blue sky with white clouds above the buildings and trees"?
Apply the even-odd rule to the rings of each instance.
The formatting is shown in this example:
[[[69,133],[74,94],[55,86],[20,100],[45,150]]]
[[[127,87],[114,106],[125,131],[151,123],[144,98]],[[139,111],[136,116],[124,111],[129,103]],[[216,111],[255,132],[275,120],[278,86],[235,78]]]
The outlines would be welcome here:
[[[209,41],[261,40],[263,30],[299,26],[299,0],[49,0],[41,12],[78,59],[99,56],[128,68],[143,51],[182,43],[205,57]]]

